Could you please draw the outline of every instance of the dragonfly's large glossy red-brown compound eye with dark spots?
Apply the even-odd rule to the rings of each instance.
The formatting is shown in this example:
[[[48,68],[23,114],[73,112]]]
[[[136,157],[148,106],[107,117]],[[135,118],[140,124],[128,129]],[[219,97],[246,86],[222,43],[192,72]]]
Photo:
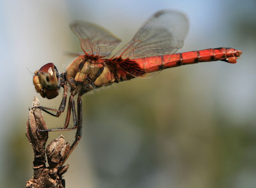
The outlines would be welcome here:
[[[58,87],[58,70],[53,63],[47,63],[38,71],[40,84],[47,90],[55,90]]]

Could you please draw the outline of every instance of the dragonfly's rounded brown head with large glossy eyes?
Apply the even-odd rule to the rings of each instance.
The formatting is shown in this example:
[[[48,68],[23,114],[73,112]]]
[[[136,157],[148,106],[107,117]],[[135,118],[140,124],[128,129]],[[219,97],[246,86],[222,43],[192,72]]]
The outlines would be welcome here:
[[[36,70],[33,77],[35,89],[42,97],[54,98],[58,92],[58,70],[53,63],[47,63],[40,70]]]

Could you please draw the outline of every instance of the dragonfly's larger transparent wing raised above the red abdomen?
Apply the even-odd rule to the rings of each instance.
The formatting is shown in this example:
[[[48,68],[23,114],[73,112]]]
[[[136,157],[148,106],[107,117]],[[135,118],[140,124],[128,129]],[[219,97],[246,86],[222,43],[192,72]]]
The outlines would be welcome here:
[[[150,17],[113,58],[136,59],[173,54],[183,46],[189,29],[187,17],[174,10],[161,10]]]

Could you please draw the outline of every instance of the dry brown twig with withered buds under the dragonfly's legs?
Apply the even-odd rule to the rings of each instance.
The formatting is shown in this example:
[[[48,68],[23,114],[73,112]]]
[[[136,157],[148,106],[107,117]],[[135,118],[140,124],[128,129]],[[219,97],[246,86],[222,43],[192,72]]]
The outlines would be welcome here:
[[[32,109],[29,111],[29,118],[26,126],[26,136],[31,143],[35,158],[33,162],[34,175],[27,181],[26,187],[65,187],[65,180],[62,175],[67,171],[68,164],[61,166],[66,157],[70,145],[66,143],[64,137],[60,135],[47,145],[48,132],[39,132],[36,129],[47,129],[42,112],[39,108],[38,98],[34,98]],[[49,166],[46,167],[45,153]]]

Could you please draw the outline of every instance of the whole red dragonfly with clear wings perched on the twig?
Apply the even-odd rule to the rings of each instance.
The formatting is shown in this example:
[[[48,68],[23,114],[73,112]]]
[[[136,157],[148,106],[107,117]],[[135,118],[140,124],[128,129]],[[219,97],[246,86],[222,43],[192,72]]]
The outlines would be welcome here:
[[[81,96],[84,93],[102,86],[109,86],[114,82],[146,77],[165,68],[218,60],[236,63],[236,59],[241,56],[241,51],[225,47],[175,54],[183,45],[188,33],[188,25],[188,19],[183,13],[161,10],[140,27],[131,42],[111,58],[106,58],[120,43],[118,38],[106,29],[90,22],[71,24],[70,27],[78,36],[84,54],[74,59],[65,73],[59,74],[53,63],[47,63],[36,71],[33,77],[35,89],[42,97],[54,98],[58,96],[60,88],[63,88],[63,98],[59,109],[40,106],[40,109],[56,117],[63,113],[67,91],[68,88],[70,89],[67,116],[63,128],[41,131],[77,129],[76,139],[70,147],[69,156],[82,135]],[[78,95],[77,112],[75,95]],[[74,125],[68,128],[71,113]]]

